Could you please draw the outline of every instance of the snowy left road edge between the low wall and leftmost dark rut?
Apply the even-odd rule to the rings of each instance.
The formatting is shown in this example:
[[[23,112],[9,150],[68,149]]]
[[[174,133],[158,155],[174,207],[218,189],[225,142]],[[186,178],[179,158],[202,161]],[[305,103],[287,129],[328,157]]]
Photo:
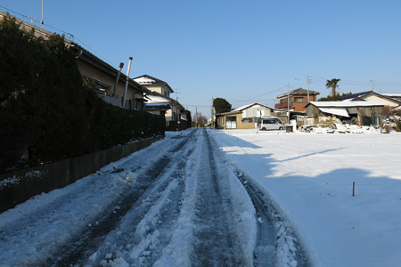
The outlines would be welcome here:
[[[85,232],[88,223],[104,216],[105,210],[112,211],[118,198],[127,195],[133,183],[124,181],[122,172],[149,169],[182,138],[170,140],[171,145],[155,142],[63,189],[31,198],[4,212],[0,220],[0,262],[39,266],[52,259],[73,237]],[[143,153],[155,157],[143,158]]]

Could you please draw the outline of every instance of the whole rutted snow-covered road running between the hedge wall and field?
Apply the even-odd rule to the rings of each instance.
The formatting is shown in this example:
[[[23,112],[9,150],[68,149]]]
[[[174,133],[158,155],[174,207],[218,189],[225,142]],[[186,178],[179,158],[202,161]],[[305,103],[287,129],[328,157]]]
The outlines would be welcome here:
[[[306,266],[298,244],[197,129],[0,214],[0,266]]]

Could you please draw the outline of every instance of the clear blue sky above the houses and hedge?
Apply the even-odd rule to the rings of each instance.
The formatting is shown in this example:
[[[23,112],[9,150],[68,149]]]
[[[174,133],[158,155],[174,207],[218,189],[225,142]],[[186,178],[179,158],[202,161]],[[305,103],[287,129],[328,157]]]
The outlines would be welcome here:
[[[41,0],[3,0],[0,10],[41,20]],[[274,106],[307,87],[401,93],[401,1],[44,0],[45,29],[64,32],[130,77],[168,82],[184,107],[209,117],[212,97],[233,108]],[[7,10],[7,9],[11,10]],[[28,20],[25,18],[25,20]],[[37,22],[35,22],[37,23]],[[38,24],[37,24],[38,25]],[[56,28],[56,29],[55,29]],[[127,72],[127,67],[123,69]],[[372,82],[371,82],[372,80]]]

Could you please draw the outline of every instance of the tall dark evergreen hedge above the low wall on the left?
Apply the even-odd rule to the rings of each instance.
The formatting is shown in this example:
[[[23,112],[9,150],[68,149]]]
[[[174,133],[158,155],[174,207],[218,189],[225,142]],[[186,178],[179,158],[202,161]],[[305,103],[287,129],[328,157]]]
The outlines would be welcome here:
[[[104,150],[164,129],[162,116],[99,99],[63,36],[44,40],[20,29],[11,16],[0,21],[0,172]]]

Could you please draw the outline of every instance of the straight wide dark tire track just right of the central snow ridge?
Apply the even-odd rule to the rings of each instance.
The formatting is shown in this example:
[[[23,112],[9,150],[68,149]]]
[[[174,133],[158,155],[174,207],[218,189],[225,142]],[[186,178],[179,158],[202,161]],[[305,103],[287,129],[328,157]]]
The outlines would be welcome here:
[[[227,207],[218,185],[218,172],[209,134],[202,131],[201,169],[197,170],[196,225],[193,266],[236,266]]]

